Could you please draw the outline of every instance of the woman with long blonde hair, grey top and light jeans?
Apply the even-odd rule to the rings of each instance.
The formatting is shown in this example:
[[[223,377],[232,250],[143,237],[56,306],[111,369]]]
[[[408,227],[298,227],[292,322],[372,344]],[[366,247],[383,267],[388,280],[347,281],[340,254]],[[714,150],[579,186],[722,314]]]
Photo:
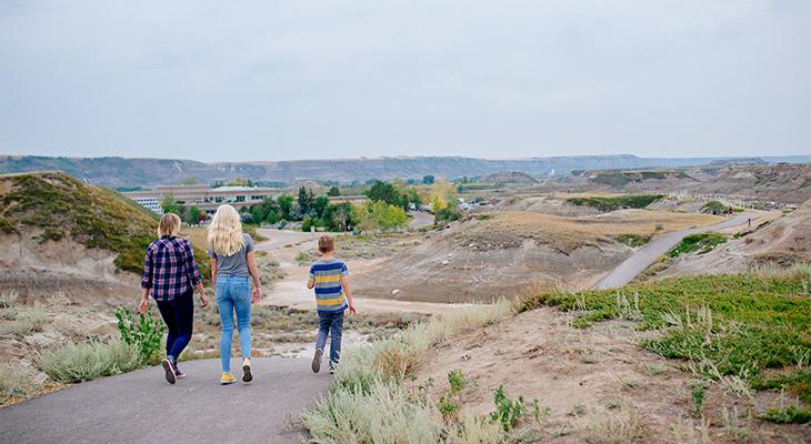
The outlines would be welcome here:
[[[220,309],[222,337],[221,384],[234,382],[231,375],[231,339],[233,336],[233,312],[237,312],[239,344],[242,350],[242,381],[251,382],[251,303],[259,302],[262,284],[259,282],[257,261],[253,256],[253,240],[242,232],[237,210],[220,205],[209,225],[209,258],[211,258],[211,282],[217,292]],[[253,280],[253,291],[251,282]]]

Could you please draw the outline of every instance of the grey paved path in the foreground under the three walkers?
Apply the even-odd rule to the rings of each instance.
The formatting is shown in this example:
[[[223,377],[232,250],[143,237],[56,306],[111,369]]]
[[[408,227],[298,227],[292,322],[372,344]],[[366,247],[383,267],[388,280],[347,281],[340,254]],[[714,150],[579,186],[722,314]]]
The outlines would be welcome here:
[[[254,359],[254,381],[227,386],[219,360],[180,366],[188,377],[174,385],[152,367],[2,408],[0,443],[300,443],[288,417],[298,418],[332,381],[306,359]]]

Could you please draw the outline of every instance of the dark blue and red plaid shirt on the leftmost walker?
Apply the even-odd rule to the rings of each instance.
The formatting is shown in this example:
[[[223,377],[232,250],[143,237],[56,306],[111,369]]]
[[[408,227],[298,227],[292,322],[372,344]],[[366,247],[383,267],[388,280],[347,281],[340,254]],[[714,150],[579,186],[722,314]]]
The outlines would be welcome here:
[[[156,301],[171,301],[202,282],[191,242],[162,236],[147,248],[142,289],[151,289]]]

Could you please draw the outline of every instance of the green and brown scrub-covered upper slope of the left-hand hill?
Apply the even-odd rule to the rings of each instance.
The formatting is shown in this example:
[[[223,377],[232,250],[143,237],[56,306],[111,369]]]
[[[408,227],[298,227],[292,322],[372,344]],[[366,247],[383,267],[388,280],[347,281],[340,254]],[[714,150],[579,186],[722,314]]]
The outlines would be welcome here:
[[[73,241],[117,253],[116,266],[140,273],[158,218],[129,199],[62,172],[0,176],[0,232],[40,242]],[[200,272],[209,274],[206,253],[194,250]]]

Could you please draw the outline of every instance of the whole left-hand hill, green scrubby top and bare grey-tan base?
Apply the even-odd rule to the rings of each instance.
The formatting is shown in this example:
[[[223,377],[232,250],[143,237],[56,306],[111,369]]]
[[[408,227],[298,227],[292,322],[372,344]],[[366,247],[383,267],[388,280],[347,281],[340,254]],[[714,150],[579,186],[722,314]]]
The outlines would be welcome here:
[[[93,303],[136,297],[153,213],[61,172],[0,175],[0,289],[23,303],[57,292]]]

